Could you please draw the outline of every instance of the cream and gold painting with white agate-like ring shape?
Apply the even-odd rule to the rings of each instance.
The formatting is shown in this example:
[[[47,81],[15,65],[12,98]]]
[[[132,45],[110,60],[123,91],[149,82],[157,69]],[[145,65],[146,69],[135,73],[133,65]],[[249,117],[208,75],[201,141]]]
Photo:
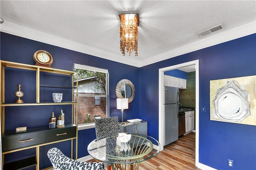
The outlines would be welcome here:
[[[210,80],[210,120],[256,125],[256,76]]]

